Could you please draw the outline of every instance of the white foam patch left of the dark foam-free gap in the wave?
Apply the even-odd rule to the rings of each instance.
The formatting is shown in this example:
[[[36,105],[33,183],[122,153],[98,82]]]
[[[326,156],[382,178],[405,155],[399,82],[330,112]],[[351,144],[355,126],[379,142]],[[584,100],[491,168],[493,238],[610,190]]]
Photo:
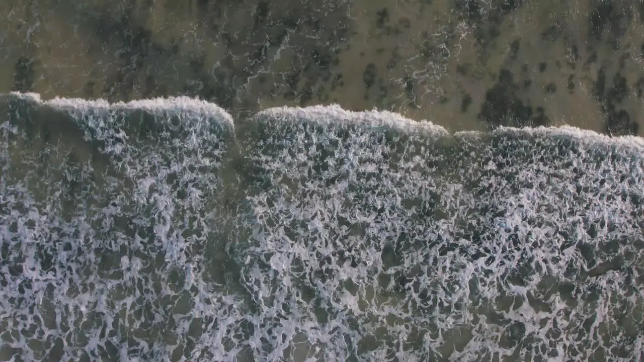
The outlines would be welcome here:
[[[217,356],[222,340],[208,338],[218,331],[189,327],[194,318],[220,325],[241,298],[215,273],[231,133],[208,124],[232,126],[230,116],[185,98],[108,105],[11,96],[24,104],[0,120],[0,330],[25,332],[3,334],[2,357],[177,360],[187,345],[186,357]],[[70,115],[94,145],[89,157],[77,152],[82,139],[47,142],[50,114],[28,112],[33,104]]]

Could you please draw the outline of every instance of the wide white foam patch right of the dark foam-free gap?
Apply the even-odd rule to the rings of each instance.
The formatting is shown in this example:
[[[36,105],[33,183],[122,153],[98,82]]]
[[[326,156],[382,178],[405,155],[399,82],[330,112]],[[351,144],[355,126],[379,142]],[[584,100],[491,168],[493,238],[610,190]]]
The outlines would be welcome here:
[[[249,197],[253,256],[240,263],[262,319],[297,325],[319,359],[632,356],[641,139],[502,128],[442,144],[390,116],[256,117],[249,157],[262,180]],[[384,137],[383,124],[399,132]],[[297,317],[279,317],[280,305]],[[323,334],[311,305],[325,306]],[[631,327],[619,330],[624,315]]]

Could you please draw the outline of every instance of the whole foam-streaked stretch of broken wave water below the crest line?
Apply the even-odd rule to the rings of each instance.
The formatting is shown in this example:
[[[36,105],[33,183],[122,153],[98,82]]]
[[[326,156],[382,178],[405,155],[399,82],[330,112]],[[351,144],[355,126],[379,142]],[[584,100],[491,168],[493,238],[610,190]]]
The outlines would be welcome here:
[[[644,140],[0,96],[0,360],[641,361]]]

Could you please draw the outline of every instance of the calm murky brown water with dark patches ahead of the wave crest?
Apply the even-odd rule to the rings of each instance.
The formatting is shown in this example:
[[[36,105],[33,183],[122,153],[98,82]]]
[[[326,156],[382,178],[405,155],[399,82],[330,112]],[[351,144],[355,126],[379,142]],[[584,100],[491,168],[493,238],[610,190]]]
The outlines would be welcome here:
[[[8,0],[0,18],[0,92],[644,134],[641,1]]]

